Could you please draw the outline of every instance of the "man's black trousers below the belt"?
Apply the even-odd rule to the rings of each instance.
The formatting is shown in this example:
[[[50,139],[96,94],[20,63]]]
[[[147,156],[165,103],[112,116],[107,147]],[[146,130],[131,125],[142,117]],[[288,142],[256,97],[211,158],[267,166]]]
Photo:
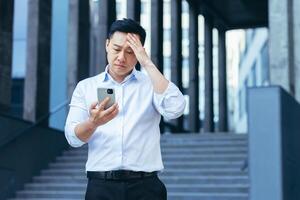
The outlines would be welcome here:
[[[167,190],[157,177],[130,180],[88,180],[85,200],[166,200]]]

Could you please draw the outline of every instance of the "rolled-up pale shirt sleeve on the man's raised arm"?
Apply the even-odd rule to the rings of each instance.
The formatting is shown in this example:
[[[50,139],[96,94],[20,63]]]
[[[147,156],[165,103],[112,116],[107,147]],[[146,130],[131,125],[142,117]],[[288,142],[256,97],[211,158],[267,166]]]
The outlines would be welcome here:
[[[154,92],[153,99],[157,111],[166,119],[178,118],[184,112],[186,105],[184,96],[178,87],[170,81],[162,94]]]

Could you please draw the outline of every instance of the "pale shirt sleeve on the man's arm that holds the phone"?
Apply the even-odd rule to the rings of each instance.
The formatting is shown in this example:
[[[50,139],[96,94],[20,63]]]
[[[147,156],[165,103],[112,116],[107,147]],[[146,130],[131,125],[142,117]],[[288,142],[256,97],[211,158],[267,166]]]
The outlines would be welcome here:
[[[84,93],[80,83],[77,84],[69,104],[70,110],[65,125],[65,137],[68,143],[73,147],[80,147],[85,144],[75,134],[77,124],[88,118],[88,109],[84,100]]]

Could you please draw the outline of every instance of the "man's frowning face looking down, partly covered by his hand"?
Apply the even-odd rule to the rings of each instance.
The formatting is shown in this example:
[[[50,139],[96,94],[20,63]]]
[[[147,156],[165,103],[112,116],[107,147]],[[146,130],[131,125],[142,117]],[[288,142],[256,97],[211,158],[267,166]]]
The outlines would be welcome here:
[[[137,63],[133,50],[127,44],[127,33],[115,32],[106,40],[109,73],[113,78],[124,79]]]

